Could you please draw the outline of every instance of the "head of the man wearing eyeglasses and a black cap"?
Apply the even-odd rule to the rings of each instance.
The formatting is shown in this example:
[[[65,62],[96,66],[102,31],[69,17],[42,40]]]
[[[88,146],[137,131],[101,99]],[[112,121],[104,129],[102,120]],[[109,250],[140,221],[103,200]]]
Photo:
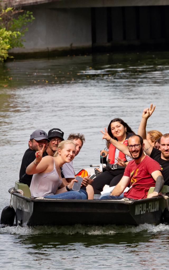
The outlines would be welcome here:
[[[49,156],[53,156],[55,151],[58,149],[58,144],[61,141],[64,141],[63,135],[64,132],[61,131],[60,129],[53,128],[49,130],[48,132],[49,143],[48,148],[46,150]]]

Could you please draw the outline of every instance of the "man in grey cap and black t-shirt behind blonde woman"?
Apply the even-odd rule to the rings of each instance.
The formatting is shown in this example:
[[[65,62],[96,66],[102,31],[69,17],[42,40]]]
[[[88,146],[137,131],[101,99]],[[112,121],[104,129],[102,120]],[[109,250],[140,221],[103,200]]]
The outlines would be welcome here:
[[[26,168],[35,160],[35,153],[38,151],[37,145],[39,145],[39,148],[42,149],[43,145],[45,144],[43,157],[48,156],[46,152],[48,141],[48,135],[44,130],[37,129],[31,134],[30,140],[28,142],[29,148],[25,151],[25,154],[22,158],[19,182],[27,184],[30,187],[33,175],[26,174]]]

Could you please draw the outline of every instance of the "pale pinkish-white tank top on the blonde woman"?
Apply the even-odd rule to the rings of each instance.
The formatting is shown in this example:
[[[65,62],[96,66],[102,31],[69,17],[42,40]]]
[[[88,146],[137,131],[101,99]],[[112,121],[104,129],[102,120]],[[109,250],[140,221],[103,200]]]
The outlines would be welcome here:
[[[53,195],[62,184],[59,179],[54,161],[54,169],[49,173],[36,173],[32,177],[30,191],[32,197],[44,197]]]

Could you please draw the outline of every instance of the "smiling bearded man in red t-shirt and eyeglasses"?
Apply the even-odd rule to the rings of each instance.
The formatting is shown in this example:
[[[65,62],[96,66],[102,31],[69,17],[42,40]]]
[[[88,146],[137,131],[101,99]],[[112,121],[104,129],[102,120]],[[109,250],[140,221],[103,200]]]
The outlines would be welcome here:
[[[110,196],[103,196],[101,200],[132,198],[147,198],[148,190],[155,185],[154,192],[148,195],[148,198],[158,196],[163,188],[164,179],[161,174],[160,164],[152,158],[145,156],[143,139],[139,135],[132,135],[128,139],[128,150],[133,158],[127,164],[124,175],[120,182],[115,186]],[[130,184],[130,189],[123,193]]]

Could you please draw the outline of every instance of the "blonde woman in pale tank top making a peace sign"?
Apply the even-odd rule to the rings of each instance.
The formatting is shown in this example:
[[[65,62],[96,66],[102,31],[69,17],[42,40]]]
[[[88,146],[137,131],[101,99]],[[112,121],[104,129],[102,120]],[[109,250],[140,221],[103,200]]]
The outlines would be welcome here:
[[[73,141],[61,141],[53,157],[42,158],[43,150],[38,148],[35,160],[26,168],[27,174],[33,174],[30,191],[32,197],[51,199],[82,199],[78,191],[72,191],[72,186],[77,180],[72,180],[66,187],[62,184],[61,167],[75,157],[75,144]],[[58,189],[59,188],[59,189]],[[87,195],[86,195],[87,198]]]

